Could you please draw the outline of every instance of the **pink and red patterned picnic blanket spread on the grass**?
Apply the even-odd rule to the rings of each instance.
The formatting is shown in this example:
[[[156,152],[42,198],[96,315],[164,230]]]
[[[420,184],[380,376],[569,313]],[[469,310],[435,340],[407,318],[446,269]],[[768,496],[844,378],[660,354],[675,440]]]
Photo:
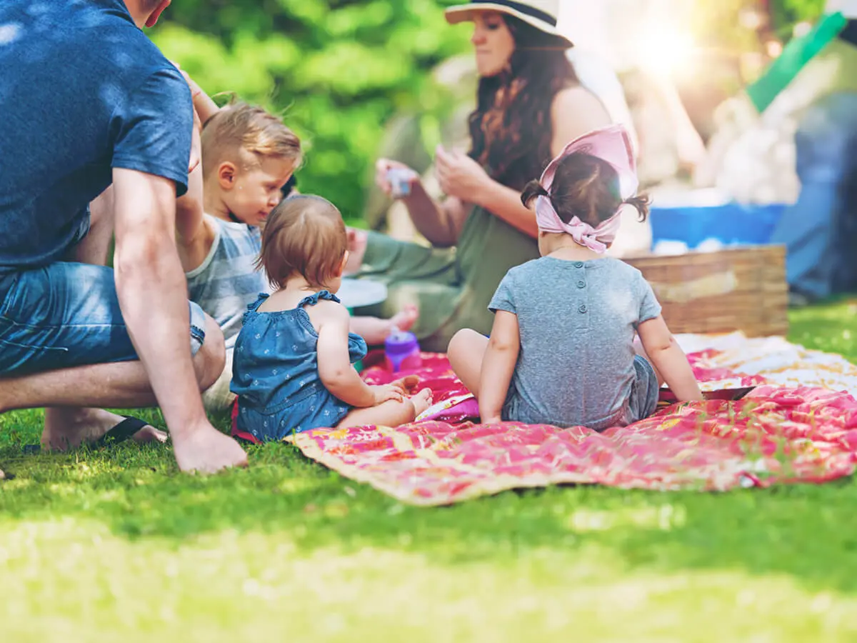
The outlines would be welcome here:
[[[435,406],[416,423],[314,430],[294,442],[309,458],[413,505],[548,484],[728,490],[820,483],[854,472],[854,364],[780,338],[678,339],[710,399],[664,406],[630,426],[599,434],[477,424],[476,400],[446,357],[427,354],[417,375],[434,391]],[[393,375],[375,366],[364,378],[381,383]],[[740,394],[746,396],[731,399]]]

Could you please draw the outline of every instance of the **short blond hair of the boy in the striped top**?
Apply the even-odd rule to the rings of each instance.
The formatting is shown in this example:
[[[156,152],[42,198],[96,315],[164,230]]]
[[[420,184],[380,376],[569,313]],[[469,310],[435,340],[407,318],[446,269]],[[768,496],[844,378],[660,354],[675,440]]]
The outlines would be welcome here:
[[[202,129],[202,174],[224,161],[242,163],[242,153],[301,160],[301,141],[278,118],[261,107],[237,102],[211,117]]]

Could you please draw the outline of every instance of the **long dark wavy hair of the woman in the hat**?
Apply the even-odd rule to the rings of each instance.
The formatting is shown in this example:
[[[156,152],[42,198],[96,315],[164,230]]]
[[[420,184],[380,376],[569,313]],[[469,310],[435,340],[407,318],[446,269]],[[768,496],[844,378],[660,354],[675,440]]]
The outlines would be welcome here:
[[[578,84],[562,45],[511,15],[503,20],[515,39],[509,66],[483,77],[470,114],[470,157],[495,181],[522,189],[551,160],[554,96]]]

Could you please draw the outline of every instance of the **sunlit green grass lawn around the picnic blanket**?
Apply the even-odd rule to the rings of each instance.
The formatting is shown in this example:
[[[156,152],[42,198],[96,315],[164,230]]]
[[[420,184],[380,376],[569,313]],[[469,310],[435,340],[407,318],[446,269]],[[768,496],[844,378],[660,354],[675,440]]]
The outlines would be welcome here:
[[[790,339],[857,361],[855,312]],[[0,416],[0,641],[857,638],[851,480],[418,509],[287,445],[212,478],[169,447],[23,456],[40,418]]]

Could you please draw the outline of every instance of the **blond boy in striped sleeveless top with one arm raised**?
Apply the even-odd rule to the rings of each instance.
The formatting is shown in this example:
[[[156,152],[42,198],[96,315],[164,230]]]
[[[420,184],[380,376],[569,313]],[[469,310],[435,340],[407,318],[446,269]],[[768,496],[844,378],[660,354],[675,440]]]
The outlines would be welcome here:
[[[261,227],[282,190],[301,165],[297,135],[260,107],[213,104],[190,80],[195,110],[205,123],[201,167],[189,177],[188,195],[177,207],[177,245],[188,279],[191,301],[198,303],[223,330],[226,363],[218,381],[203,394],[208,411],[229,409],[232,352],[244,312],[260,292],[270,292],[267,274],[256,268]],[[390,320],[355,317],[351,328],[380,344],[396,328],[410,328],[416,309]]]

